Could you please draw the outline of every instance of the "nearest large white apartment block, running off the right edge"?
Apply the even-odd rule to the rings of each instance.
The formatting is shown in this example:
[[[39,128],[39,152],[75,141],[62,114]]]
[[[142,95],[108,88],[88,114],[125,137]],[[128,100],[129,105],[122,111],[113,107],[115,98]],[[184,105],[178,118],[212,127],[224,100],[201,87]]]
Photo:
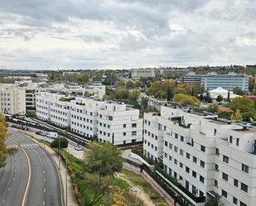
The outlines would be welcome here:
[[[144,114],[144,155],[195,197],[256,205],[256,128],[182,108]],[[254,149],[255,148],[255,149]]]

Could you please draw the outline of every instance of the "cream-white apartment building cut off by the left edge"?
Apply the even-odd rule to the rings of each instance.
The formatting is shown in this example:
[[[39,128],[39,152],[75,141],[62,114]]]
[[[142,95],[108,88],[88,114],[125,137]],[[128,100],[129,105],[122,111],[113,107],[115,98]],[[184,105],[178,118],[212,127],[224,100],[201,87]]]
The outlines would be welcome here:
[[[12,84],[0,84],[0,113],[25,114],[25,89],[19,89]]]

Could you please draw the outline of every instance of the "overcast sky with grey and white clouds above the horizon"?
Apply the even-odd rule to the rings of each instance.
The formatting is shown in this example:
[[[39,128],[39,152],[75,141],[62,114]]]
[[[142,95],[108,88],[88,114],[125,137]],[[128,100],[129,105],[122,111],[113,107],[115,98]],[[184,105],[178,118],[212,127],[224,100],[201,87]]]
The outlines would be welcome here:
[[[256,64],[254,0],[1,0],[0,66]]]

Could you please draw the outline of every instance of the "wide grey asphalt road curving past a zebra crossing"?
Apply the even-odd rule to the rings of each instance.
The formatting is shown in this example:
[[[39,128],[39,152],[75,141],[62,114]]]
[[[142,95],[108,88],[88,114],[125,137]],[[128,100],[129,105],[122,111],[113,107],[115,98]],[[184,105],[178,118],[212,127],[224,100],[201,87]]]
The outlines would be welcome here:
[[[60,180],[51,156],[18,130],[10,128],[9,132],[11,132],[11,137],[7,144],[22,148],[30,160],[31,182],[26,205],[61,205]],[[8,158],[2,176],[0,172],[0,205],[21,205],[28,180],[27,172],[27,159],[23,151],[19,150],[15,157]],[[13,180],[14,176],[16,178]],[[4,186],[2,187],[2,185]]]

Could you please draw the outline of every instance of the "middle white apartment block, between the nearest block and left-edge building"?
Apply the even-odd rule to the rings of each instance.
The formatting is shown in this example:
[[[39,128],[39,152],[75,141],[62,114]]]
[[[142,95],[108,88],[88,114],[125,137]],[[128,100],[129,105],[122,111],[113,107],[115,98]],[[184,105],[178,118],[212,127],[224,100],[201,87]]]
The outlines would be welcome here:
[[[36,117],[60,127],[69,127],[81,137],[98,137],[114,145],[142,141],[139,110],[123,103],[92,98],[66,98],[63,94],[41,92],[36,95]]]

